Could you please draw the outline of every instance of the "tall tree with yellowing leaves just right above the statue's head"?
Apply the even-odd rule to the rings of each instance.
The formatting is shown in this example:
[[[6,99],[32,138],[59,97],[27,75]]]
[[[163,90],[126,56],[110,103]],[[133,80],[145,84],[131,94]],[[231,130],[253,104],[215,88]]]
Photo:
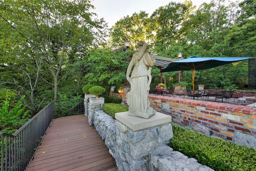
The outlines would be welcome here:
[[[179,52],[177,40],[180,39],[178,31],[189,10],[186,4],[170,2],[153,12],[150,16],[149,28],[152,30],[150,32],[155,33],[152,45],[155,54],[177,57]]]

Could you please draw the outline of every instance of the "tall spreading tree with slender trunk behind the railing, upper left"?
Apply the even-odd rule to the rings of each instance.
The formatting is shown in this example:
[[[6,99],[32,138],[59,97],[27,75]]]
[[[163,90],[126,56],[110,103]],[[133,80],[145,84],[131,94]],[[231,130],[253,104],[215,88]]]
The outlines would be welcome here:
[[[106,23],[94,19],[91,8],[94,7],[89,0],[2,0],[1,22],[6,22],[13,34],[23,39],[25,44],[21,48],[31,51],[29,58],[34,60],[36,54],[36,59],[52,74],[54,99],[70,52],[77,46],[88,51],[104,38]]]

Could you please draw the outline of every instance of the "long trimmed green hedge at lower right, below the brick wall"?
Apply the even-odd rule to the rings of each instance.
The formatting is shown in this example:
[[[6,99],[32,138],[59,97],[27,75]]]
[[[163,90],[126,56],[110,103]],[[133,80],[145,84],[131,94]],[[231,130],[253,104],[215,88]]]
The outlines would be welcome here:
[[[173,125],[169,146],[215,171],[256,171],[256,150]]]

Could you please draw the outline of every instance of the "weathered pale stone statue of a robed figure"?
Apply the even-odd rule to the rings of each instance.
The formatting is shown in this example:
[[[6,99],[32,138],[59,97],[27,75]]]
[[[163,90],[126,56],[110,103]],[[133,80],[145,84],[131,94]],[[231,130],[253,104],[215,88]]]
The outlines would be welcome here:
[[[148,93],[151,83],[151,69],[156,60],[149,56],[148,45],[144,41],[138,42],[138,49],[132,55],[132,60],[127,68],[126,79],[131,84],[131,90],[127,93],[128,115],[148,119],[156,113],[150,107]],[[132,70],[132,66],[134,66]],[[130,76],[130,72],[132,74]]]

